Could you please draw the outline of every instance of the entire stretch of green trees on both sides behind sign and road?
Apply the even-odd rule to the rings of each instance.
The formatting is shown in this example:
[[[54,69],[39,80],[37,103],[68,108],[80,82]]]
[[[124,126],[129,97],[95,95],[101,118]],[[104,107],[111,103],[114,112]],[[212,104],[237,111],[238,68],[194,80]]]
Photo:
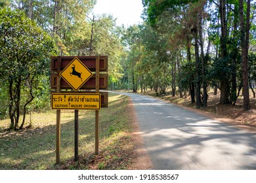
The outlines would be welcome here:
[[[144,22],[125,27],[112,14],[93,14],[95,0],[0,0],[0,118],[22,129],[26,114],[50,110],[51,56],[108,56],[110,90],[170,90],[207,108],[213,88],[221,105],[243,95],[250,109],[254,0],[141,3]]]

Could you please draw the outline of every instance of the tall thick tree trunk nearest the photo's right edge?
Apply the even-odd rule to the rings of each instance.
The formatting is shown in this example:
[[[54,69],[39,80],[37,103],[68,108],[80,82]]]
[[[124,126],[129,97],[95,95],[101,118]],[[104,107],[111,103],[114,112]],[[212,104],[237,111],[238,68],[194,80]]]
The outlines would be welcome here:
[[[251,2],[247,0],[246,25],[244,22],[244,6],[243,0],[239,0],[240,9],[240,27],[241,27],[241,47],[242,47],[242,79],[243,79],[243,95],[244,110],[249,110],[249,82],[248,82],[248,50],[249,50],[249,27],[250,27],[250,9]]]

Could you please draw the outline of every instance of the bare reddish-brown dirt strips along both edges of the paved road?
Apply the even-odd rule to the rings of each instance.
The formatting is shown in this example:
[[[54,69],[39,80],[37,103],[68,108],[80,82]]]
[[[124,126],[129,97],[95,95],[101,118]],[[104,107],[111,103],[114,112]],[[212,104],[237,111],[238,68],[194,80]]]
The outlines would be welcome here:
[[[144,95],[154,95],[154,92],[143,93]],[[186,108],[187,110],[192,110],[208,118],[219,120],[221,122],[234,125],[249,131],[256,132],[256,99],[250,96],[250,106],[251,110],[245,111],[243,109],[243,98],[240,96],[236,105],[220,105],[220,93],[213,95],[213,92],[208,93],[208,103],[207,109],[203,110],[197,109],[194,105],[190,103],[190,97],[180,98],[179,96],[171,97],[171,95],[165,95],[164,97],[159,97],[165,101],[170,101],[171,103],[178,105],[179,107]],[[140,135],[139,124],[137,122],[137,116],[133,103],[131,99],[129,100],[129,114],[133,116],[133,125],[135,126],[134,141],[136,144],[135,159],[133,160],[133,165],[135,169],[151,169],[152,163],[146,150],[144,149],[144,143]]]

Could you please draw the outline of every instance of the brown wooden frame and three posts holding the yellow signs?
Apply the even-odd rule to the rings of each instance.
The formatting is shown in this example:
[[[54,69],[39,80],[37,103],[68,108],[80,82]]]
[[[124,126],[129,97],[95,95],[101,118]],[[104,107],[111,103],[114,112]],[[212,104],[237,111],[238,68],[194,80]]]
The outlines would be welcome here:
[[[91,72],[93,76],[79,90],[74,92],[72,86],[60,76],[66,66],[78,58]],[[104,72],[104,74],[100,74]],[[108,92],[100,92],[100,89],[108,90],[108,56],[56,56],[51,58],[51,92],[53,93],[100,93],[100,108],[108,107]],[[102,81],[103,80],[103,81]],[[87,84],[87,85],[86,85]],[[82,90],[89,90],[83,91]],[[92,90],[95,90],[93,92]],[[103,98],[102,98],[103,97]],[[102,105],[103,101],[103,105]],[[78,109],[75,109],[75,161],[78,160]],[[95,154],[99,154],[99,110],[95,110]],[[60,109],[56,110],[56,164],[60,164]]]

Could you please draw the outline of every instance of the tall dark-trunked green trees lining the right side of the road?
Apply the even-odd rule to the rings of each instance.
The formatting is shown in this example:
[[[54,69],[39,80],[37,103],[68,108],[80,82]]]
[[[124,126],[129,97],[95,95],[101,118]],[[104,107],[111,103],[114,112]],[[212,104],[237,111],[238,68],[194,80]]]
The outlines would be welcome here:
[[[144,24],[127,29],[130,60],[125,66],[133,92],[191,95],[207,107],[209,87],[219,102],[235,105],[242,90],[249,110],[255,97],[255,2],[144,0]]]

